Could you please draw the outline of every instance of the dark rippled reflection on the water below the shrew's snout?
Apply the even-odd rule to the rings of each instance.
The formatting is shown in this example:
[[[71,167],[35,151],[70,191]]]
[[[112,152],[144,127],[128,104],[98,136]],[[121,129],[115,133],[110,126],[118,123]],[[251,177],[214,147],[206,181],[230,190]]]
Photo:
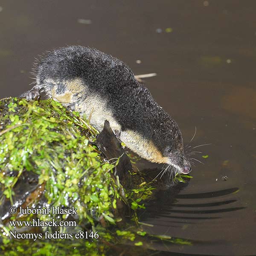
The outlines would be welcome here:
[[[149,174],[154,177],[155,172],[160,170],[155,168],[154,171],[150,170]],[[140,210],[138,214],[142,223],[152,225],[151,227],[145,226],[148,233],[176,236],[186,240],[188,239],[186,230],[192,227],[197,229],[202,222],[204,228],[207,229],[212,226],[212,221],[219,222],[225,218],[226,213],[245,209],[235,196],[235,193],[239,191],[238,188],[187,194],[183,192],[183,189],[188,188],[189,181],[186,178],[186,183],[173,183],[168,175],[163,175],[163,180],[156,183],[157,190],[153,192],[153,197],[145,204],[146,209]],[[205,239],[205,235],[191,236],[189,241],[197,248],[224,243],[224,240],[220,239]],[[177,251],[177,245],[159,243],[154,245],[163,251]],[[189,255],[187,253],[191,253],[191,247],[183,246],[182,252]]]

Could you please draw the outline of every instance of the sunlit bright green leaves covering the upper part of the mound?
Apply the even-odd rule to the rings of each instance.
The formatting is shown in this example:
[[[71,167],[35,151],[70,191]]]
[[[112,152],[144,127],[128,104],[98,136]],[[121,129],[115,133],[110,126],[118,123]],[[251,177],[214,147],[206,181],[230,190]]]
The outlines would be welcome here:
[[[50,206],[76,208],[78,223],[94,225],[100,218],[114,223],[111,209],[120,198],[121,185],[111,177],[114,165],[103,161],[89,143],[96,134],[79,113],[53,100],[0,101],[0,204],[4,195],[10,205],[15,204],[15,184],[25,172],[34,172],[44,192],[36,193],[26,206],[37,203],[43,194]]]

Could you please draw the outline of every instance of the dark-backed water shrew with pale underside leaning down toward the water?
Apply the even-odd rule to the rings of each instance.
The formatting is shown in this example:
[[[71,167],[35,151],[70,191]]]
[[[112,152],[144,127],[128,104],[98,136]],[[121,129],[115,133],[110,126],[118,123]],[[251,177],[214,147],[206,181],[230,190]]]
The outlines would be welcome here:
[[[145,159],[184,165],[177,123],[122,61],[96,49],[71,46],[48,52],[35,73],[35,87],[23,96],[30,99],[43,90],[47,97],[90,116],[99,130],[108,119],[113,130],[121,131],[120,139]],[[164,154],[166,147],[174,152],[171,161]]]

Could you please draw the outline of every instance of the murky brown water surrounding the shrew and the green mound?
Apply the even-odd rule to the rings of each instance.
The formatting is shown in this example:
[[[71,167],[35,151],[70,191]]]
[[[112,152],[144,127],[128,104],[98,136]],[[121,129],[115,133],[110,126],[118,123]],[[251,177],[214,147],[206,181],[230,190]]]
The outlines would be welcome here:
[[[196,126],[192,147],[212,143],[196,148],[204,165],[195,161],[175,201],[161,192],[140,216],[154,225],[148,232],[196,242],[155,244],[160,255],[256,254],[256,1],[6,0],[0,7],[0,98],[31,87],[36,55],[81,44],[136,74],[157,73],[146,86],[185,142]]]

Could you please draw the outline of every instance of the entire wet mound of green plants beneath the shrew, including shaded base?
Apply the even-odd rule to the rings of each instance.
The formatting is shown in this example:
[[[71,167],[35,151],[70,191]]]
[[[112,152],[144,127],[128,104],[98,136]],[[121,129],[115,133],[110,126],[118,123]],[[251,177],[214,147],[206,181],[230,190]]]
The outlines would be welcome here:
[[[124,171],[134,180],[133,186],[123,187],[119,177],[114,175],[120,157],[105,159],[96,146],[98,131],[85,120],[79,113],[70,112],[53,100],[26,102],[8,98],[0,101],[0,248],[4,255],[25,252],[31,255],[65,255],[67,252],[77,256],[104,255],[106,247],[119,243],[121,238],[135,246],[143,245],[142,239],[147,234],[136,226],[136,210],[144,208],[143,202],[151,196],[153,188],[143,175],[132,170]],[[49,214],[17,212],[11,215],[9,209],[13,206],[51,210]],[[76,213],[56,213],[52,207],[73,207]],[[121,227],[127,227],[125,215],[134,220],[134,228],[120,231]],[[36,228],[10,225],[10,221],[38,219],[73,221],[76,225]],[[59,237],[9,239],[10,232],[16,230],[73,235],[62,241]],[[88,232],[89,236],[96,231],[97,236],[88,239],[75,237],[80,232]],[[63,242],[65,240],[67,242]]]

